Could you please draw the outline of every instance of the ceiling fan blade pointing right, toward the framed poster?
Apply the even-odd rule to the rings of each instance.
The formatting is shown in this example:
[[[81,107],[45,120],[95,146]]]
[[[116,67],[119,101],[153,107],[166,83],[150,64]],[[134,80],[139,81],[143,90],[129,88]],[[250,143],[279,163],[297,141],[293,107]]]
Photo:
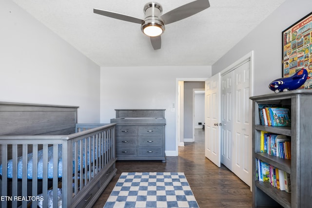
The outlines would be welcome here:
[[[209,0],[195,0],[160,16],[165,24],[188,18],[210,7]]]

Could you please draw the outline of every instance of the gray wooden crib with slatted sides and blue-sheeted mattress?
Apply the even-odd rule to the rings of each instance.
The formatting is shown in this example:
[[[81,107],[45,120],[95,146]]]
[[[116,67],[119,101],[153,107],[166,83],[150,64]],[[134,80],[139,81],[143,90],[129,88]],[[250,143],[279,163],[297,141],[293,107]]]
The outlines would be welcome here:
[[[115,124],[75,106],[0,102],[0,207],[88,208],[116,175]]]

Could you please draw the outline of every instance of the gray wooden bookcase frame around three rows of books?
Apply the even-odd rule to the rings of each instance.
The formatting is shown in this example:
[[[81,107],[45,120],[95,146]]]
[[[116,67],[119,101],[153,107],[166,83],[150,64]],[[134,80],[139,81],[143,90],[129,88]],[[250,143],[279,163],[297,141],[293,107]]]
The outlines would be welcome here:
[[[312,207],[312,91],[294,90],[253,96],[253,207]],[[259,105],[281,104],[291,110],[290,127],[261,125]],[[261,131],[290,137],[292,159],[282,159],[260,152]],[[291,193],[258,181],[259,159],[291,175]]]

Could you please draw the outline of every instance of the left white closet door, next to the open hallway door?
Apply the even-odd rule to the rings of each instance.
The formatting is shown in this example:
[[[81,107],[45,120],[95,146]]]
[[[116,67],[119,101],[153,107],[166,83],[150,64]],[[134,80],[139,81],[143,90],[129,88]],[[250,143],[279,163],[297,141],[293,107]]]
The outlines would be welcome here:
[[[221,77],[221,163],[233,167],[234,71]]]

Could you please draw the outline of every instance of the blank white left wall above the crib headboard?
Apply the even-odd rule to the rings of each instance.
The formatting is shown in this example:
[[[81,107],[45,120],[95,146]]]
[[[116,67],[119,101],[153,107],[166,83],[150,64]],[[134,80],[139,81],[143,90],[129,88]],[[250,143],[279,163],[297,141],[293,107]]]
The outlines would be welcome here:
[[[0,25],[0,101],[79,106],[78,122],[99,122],[97,64],[11,0]]]

